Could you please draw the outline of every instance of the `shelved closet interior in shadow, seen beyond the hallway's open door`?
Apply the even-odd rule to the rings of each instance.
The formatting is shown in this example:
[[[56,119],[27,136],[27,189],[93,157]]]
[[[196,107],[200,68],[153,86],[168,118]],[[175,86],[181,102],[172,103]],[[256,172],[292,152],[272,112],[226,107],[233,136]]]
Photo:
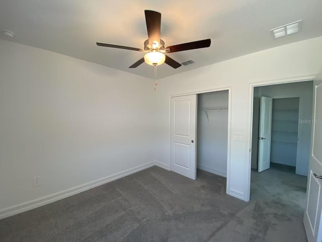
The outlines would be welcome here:
[[[271,162],[296,167],[299,98],[273,99]]]

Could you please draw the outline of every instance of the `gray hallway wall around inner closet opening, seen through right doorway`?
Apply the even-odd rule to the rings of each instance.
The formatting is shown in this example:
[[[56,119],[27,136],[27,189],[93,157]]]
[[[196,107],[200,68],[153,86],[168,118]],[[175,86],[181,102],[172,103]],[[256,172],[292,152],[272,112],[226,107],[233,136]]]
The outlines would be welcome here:
[[[260,97],[264,96],[264,97],[270,97],[273,99],[298,97],[299,98],[299,119],[301,120],[312,119],[312,91],[313,91],[312,81],[257,87],[254,89],[254,91],[256,89],[259,89],[259,91],[256,91],[256,92],[259,92]],[[259,115],[255,115],[256,112],[257,111],[254,109],[253,124],[259,122]],[[256,125],[253,125],[253,137],[254,136],[258,137],[258,126]],[[253,143],[254,142],[258,143],[258,140],[253,139]],[[296,174],[298,175],[307,176],[310,142],[311,142],[311,124],[305,123],[305,122],[299,123],[297,153],[296,153]],[[254,146],[256,145],[254,144]],[[257,164],[257,156],[258,156],[258,151],[253,147],[252,168],[253,166],[255,166],[255,162]]]

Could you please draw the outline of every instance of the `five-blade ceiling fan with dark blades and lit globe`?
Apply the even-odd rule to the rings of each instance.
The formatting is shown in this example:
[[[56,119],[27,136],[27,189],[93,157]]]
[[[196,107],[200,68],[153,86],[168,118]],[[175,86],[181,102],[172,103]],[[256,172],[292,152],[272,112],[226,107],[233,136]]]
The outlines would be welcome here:
[[[173,53],[184,50],[192,50],[192,49],[200,49],[209,47],[211,44],[210,39],[199,40],[179,45],[172,45],[165,47],[165,42],[160,39],[160,29],[161,29],[161,14],[151,10],[144,10],[145,13],[145,22],[147,28],[148,39],[144,41],[144,49],[133,48],[122,45],[113,45],[113,44],[105,44],[99,43],[96,44],[98,46],[111,47],[117,49],[126,49],[126,50],[134,50],[134,51],[142,51],[147,52],[144,57],[136,61],[129,68],[136,68],[144,61],[149,65],[160,65],[166,62],[168,65],[173,68],[178,68],[181,64],[174,59],[170,58],[168,55],[164,53]]]

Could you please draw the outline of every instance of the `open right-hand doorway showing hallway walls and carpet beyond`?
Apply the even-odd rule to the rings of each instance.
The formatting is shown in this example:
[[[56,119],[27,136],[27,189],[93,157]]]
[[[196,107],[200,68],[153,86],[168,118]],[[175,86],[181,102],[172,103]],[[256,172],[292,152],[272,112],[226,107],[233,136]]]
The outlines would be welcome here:
[[[303,120],[312,118],[312,87],[312,81],[254,87],[251,200],[263,197],[262,189],[270,196],[296,195],[298,204],[304,206],[311,125]],[[272,101],[270,166],[259,171],[260,142],[267,138],[260,137],[263,97]]]

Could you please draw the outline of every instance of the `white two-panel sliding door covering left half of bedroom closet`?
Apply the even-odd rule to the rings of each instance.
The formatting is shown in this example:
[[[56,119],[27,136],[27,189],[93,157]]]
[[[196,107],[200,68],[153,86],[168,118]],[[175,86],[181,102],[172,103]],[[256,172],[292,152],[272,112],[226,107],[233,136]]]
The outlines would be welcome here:
[[[171,171],[196,180],[197,95],[171,99]]]

